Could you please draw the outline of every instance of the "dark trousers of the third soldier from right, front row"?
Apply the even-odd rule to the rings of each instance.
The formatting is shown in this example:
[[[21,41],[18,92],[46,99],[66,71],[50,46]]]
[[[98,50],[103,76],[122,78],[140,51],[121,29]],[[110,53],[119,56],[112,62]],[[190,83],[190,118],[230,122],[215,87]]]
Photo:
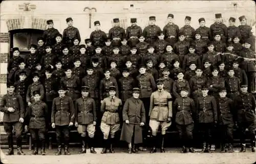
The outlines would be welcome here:
[[[214,123],[199,123],[200,131],[202,132],[203,141],[206,144],[212,144],[212,133],[214,132]]]

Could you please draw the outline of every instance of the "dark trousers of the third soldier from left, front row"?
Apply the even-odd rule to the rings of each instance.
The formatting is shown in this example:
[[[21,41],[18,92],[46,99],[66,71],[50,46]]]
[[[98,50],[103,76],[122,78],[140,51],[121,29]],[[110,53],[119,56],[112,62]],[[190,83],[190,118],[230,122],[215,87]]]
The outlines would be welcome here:
[[[56,125],[56,139],[57,139],[57,145],[61,146],[61,139],[62,136],[61,134],[63,133],[64,137],[64,145],[68,146],[69,145],[69,126],[68,125],[63,125],[63,126],[58,126]]]

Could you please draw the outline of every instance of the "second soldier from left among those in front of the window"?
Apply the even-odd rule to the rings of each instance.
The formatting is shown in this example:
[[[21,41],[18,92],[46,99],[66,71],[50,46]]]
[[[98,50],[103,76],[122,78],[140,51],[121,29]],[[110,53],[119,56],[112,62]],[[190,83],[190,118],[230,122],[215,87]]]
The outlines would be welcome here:
[[[25,64],[26,64],[27,68],[29,68],[31,71],[33,71],[33,68],[34,68],[36,62],[39,61],[37,53],[36,53],[37,45],[31,44],[29,50],[30,50],[30,54],[26,55]]]

